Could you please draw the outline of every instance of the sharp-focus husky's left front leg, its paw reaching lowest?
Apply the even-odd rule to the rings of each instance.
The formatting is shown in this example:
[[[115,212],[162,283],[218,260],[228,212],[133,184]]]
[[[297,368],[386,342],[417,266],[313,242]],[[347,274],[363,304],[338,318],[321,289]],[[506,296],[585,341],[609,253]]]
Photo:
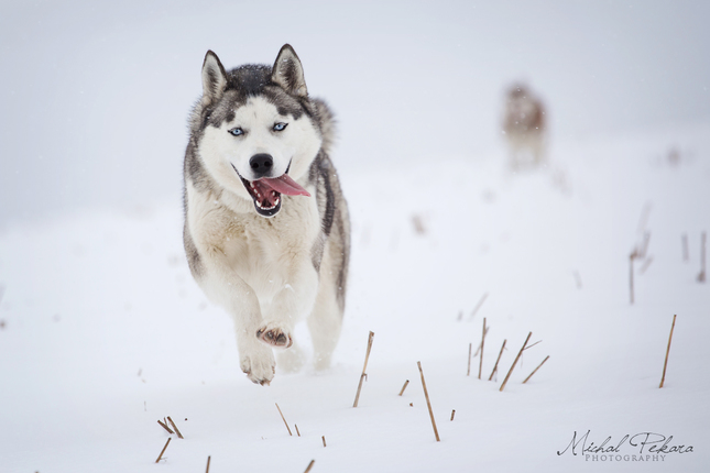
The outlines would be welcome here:
[[[260,343],[255,336],[263,327],[256,294],[226,264],[219,261],[210,263],[200,285],[212,301],[234,318],[240,367],[252,382],[262,386],[270,384],[276,362],[273,350]]]

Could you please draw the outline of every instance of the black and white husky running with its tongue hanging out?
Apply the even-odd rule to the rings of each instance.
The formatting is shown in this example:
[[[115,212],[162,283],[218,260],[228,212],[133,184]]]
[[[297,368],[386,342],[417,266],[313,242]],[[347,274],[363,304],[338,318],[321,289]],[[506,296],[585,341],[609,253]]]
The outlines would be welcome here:
[[[348,207],[328,157],[332,113],[308,96],[284,45],[273,67],[229,72],[211,51],[185,152],[185,252],[207,297],[234,319],[240,365],[261,385],[304,364],[293,339],[307,318],[316,369],[340,336],[350,254]],[[293,345],[293,346],[292,346]]]

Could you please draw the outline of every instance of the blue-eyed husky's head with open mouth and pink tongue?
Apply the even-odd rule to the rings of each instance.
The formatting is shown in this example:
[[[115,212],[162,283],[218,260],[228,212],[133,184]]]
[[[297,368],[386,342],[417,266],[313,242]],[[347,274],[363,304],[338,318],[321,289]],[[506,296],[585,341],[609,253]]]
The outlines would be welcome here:
[[[230,72],[208,51],[196,107],[200,158],[222,187],[253,200],[260,216],[273,217],[282,195],[309,196],[297,180],[323,144],[310,108],[301,61],[288,44],[273,67]]]

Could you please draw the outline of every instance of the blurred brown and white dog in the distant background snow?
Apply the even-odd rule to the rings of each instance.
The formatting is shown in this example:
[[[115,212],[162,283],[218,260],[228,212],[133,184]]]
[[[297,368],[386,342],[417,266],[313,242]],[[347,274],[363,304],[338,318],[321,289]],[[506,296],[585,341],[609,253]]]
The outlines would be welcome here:
[[[537,166],[545,161],[545,109],[539,99],[523,85],[510,88],[505,101],[503,131],[507,140],[510,164]]]

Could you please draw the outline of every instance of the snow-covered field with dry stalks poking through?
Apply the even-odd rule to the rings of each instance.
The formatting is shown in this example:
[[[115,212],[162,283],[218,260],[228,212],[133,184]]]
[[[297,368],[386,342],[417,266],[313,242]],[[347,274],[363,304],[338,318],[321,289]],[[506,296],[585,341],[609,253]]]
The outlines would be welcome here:
[[[710,286],[696,278],[710,230],[710,125],[556,143],[550,154],[517,174],[502,152],[342,174],[353,251],[334,366],[277,373],[269,387],[240,372],[229,317],[190,278],[178,201],[7,228],[0,471],[199,472],[208,457],[210,472],[303,472],[312,460],[314,473],[707,471]],[[636,264],[631,305],[629,254],[644,231],[651,264]],[[479,381],[479,359],[467,376],[467,358],[483,318]],[[531,331],[542,343],[499,392]],[[156,465],[166,416],[185,439],[173,436]],[[618,452],[586,457],[580,443],[572,454],[572,436],[587,431],[587,447],[632,438]],[[638,444],[645,432],[692,451],[652,453]]]

